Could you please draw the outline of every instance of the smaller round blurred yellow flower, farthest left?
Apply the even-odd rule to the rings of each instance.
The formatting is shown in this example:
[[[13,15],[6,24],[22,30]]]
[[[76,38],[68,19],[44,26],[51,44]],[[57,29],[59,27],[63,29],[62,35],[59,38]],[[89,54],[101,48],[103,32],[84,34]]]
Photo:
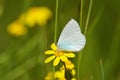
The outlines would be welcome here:
[[[10,34],[19,37],[25,35],[27,29],[24,27],[23,24],[19,23],[18,21],[15,21],[8,25],[7,31]]]

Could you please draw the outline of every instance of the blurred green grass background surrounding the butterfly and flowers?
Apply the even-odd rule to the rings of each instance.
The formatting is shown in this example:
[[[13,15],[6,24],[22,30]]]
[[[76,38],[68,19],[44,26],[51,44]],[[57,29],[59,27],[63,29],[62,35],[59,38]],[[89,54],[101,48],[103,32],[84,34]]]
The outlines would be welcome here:
[[[89,0],[83,0],[83,25]],[[9,24],[31,7],[48,7],[52,17],[45,26],[27,27],[24,36],[7,32]],[[59,0],[57,38],[65,24],[74,18],[79,22],[80,0]],[[0,80],[44,80],[51,70],[44,64],[46,49],[54,41],[55,0],[0,0]],[[80,80],[120,80],[120,1],[93,0],[87,43],[83,50]],[[76,54],[77,55],[77,54]]]

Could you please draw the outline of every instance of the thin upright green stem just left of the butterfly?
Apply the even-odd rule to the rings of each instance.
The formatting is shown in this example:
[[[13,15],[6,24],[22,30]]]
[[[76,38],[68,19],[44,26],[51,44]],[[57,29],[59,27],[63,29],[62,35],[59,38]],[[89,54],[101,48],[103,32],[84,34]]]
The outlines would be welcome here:
[[[54,31],[54,43],[57,42],[57,23],[58,23],[58,0],[56,0],[56,8],[55,8],[55,31]],[[52,80],[54,80],[54,72],[55,72],[55,67],[53,66],[52,68]]]

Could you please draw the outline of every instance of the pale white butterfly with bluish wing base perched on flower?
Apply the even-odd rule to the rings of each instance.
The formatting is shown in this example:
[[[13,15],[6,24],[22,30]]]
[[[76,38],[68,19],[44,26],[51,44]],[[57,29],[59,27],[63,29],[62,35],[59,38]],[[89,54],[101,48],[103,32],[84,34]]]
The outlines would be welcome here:
[[[85,46],[86,38],[81,33],[79,24],[71,19],[60,34],[57,47],[62,51],[78,52]]]

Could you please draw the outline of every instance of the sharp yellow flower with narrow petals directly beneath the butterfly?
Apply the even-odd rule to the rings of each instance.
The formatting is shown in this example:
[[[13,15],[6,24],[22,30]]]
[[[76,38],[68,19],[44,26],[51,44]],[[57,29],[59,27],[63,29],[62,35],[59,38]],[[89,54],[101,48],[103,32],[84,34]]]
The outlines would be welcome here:
[[[66,62],[68,61],[68,58],[75,57],[73,53],[70,52],[66,53],[65,51],[60,51],[58,47],[55,45],[55,43],[51,44],[51,48],[53,50],[45,51],[45,54],[52,55],[45,60],[45,63],[48,63],[54,59],[53,65],[56,66],[59,64],[60,61]]]

